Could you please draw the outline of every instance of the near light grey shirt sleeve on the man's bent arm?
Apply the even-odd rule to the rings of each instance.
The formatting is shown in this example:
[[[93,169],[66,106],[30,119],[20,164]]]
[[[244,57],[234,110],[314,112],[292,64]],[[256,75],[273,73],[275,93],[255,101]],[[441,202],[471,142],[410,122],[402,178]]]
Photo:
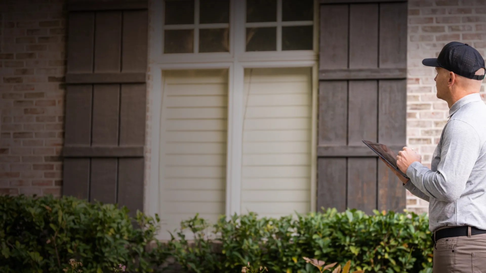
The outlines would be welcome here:
[[[453,203],[464,192],[479,157],[479,135],[468,123],[451,119],[444,128],[441,148],[437,171],[416,161],[408,167],[407,176],[409,182],[429,197]]]

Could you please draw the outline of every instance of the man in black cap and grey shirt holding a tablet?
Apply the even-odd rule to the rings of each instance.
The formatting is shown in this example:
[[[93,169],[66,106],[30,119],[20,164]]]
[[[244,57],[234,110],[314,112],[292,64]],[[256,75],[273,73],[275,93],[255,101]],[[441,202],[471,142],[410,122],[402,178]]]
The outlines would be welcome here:
[[[485,61],[468,44],[451,42],[422,64],[436,69],[437,98],[448,103],[449,120],[430,170],[408,147],[397,166],[410,177],[404,187],[430,202],[433,272],[486,273],[486,105],[479,95]]]

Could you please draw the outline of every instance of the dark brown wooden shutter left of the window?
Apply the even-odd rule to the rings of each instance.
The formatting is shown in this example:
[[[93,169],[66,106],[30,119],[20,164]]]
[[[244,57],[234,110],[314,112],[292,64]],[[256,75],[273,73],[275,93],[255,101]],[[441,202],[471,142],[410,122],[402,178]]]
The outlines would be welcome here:
[[[70,0],[63,194],[143,210],[147,0]]]

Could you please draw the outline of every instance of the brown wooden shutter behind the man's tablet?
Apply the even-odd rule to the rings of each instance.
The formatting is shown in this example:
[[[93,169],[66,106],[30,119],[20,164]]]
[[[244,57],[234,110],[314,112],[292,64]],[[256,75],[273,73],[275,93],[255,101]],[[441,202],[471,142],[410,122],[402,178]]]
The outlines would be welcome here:
[[[362,139],[406,144],[407,2],[360,2],[321,0],[317,208],[401,212],[405,189]]]

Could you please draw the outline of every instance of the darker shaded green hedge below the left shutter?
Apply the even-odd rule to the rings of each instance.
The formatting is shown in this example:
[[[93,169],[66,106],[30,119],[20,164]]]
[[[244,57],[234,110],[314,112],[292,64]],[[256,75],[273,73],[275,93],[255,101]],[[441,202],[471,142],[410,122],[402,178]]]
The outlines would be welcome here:
[[[73,197],[0,196],[0,272],[62,273],[71,258],[83,263],[83,273],[112,272],[120,263],[130,272],[152,272],[166,259],[162,247],[147,247],[156,221],[127,213]]]

